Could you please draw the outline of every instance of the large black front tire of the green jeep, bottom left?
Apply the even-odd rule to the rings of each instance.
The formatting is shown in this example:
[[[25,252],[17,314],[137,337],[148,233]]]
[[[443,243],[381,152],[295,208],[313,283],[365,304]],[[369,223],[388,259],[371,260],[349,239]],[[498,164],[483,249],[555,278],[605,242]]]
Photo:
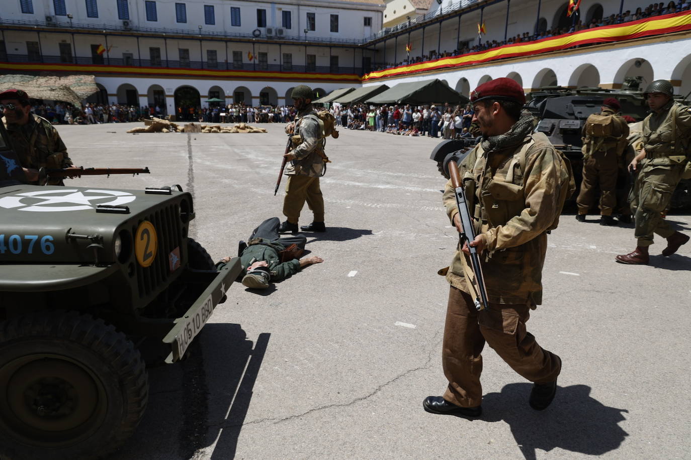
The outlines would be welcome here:
[[[120,446],[149,394],[124,334],[71,311],[0,324],[0,458],[91,459]]]

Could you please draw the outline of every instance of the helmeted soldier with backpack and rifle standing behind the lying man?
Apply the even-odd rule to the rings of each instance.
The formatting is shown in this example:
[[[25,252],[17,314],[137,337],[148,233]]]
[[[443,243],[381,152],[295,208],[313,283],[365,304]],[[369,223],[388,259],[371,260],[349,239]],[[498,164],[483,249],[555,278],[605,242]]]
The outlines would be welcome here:
[[[290,95],[298,111],[295,121],[289,123],[285,132],[293,134],[292,150],[285,154],[291,161],[285,168],[288,181],[283,199],[283,214],[287,218],[278,229],[281,233],[297,233],[300,212],[305,206],[314,214],[312,223],[302,226],[305,232],[325,232],[324,199],[319,188],[319,178],[326,172],[329,159],[324,154],[325,141],[321,137],[319,118],[312,108],[312,88],[296,86]]]

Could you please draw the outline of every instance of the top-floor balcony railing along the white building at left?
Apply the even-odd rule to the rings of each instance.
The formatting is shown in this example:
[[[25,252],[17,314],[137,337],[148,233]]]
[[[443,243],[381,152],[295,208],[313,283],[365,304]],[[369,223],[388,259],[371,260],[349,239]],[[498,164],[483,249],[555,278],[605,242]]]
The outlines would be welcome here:
[[[55,28],[59,30],[94,30],[94,33],[104,34],[106,32],[144,32],[151,34],[167,34],[167,35],[188,35],[191,37],[196,37],[198,39],[203,38],[238,38],[238,39],[275,39],[275,40],[287,40],[287,41],[301,41],[307,43],[323,43],[323,44],[339,44],[339,45],[362,45],[369,41],[372,37],[362,38],[362,39],[341,39],[335,37],[314,37],[312,34],[307,33],[303,35],[267,35],[264,32],[259,37],[254,37],[252,33],[240,33],[240,32],[218,32],[215,30],[205,30],[204,28],[200,30],[192,29],[170,29],[170,28],[155,28],[155,27],[142,27],[127,22],[128,25],[123,24],[93,24],[93,23],[78,23],[78,22],[66,22],[66,21],[30,21],[28,19],[1,19],[0,25],[2,26],[39,26],[46,28]]]

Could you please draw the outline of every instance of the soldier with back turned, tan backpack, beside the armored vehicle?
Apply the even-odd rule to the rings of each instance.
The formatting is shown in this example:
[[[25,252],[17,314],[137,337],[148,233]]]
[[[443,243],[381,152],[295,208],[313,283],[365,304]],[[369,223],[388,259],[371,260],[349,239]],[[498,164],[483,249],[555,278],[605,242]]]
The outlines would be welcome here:
[[[609,97],[603,102],[600,113],[591,114],[583,126],[583,181],[576,199],[576,220],[585,222],[585,215],[593,205],[597,188],[600,188],[600,225],[616,226],[612,217],[616,206],[616,179],[618,163],[627,146],[629,126],[619,116],[619,101]]]

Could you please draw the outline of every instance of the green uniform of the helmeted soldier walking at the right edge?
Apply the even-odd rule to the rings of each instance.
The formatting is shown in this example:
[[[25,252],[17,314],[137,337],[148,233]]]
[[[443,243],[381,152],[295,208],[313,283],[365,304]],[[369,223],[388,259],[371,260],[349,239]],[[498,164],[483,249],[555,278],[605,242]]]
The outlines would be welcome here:
[[[675,230],[663,219],[672,193],[691,157],[691,107],[670,101],[660,113],[643,120],[641,142],[645,159],[638,166],[636,196],[632,211],[636,215],[638,246],[650,246],[653,234],[671,237]]]

